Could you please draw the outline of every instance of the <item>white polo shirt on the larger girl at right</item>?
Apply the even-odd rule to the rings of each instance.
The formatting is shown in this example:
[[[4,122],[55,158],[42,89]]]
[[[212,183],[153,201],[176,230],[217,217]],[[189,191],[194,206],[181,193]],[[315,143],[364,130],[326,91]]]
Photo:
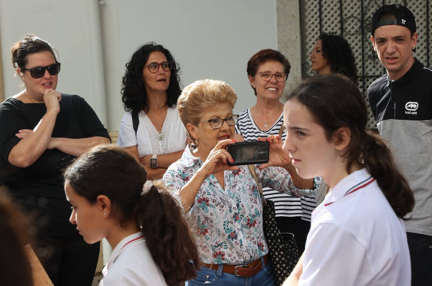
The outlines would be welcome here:
[[[366,169],[343,178],[312,212],[299,286],[407,286],[403,221]]]

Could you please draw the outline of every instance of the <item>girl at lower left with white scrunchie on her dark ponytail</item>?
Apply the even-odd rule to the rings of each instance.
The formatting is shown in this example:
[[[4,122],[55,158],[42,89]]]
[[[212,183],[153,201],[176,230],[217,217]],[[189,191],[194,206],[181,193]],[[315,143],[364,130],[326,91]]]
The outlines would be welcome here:
[[[70,222],[87,243],[105,237],[114,249],[99,286],[177,285],[199,268],[177,202],[146,176],[137,160],[113,145],[91,149],[64,172]]]

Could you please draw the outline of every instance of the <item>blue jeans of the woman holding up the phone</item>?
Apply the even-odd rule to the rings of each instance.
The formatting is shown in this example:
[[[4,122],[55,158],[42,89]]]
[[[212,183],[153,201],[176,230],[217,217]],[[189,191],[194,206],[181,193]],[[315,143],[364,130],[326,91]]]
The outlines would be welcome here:
[[[224,273],[223,264],[219,264],[218,270],[209,269],[202,266],[197,271],[197,277],[186,281],[185,286],[274,286],[273,267],[271,261],[264,260],[261,257],[263,269],[257,274],[250,277],[238,277],[235,274]]]

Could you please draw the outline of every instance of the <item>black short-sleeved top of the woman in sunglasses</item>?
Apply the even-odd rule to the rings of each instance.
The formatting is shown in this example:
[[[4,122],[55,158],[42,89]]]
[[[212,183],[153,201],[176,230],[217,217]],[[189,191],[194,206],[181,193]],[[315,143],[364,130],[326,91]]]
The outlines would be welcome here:
[[[64,194],[62,169],[73,156],[58,149],[45,150],[27,168],[12,166],[9,153],[21,140],[15,136],[20,129],[34,129],[45,115],[44,103],[23,103],[8,98],[0,104],[0,166],[3,182],[15,201],[26,211],[37,210],[43,214],[70,214],[70,204]],[[63,94],[60,113],[51,137],[110,138],[98,116],[78,95]]]

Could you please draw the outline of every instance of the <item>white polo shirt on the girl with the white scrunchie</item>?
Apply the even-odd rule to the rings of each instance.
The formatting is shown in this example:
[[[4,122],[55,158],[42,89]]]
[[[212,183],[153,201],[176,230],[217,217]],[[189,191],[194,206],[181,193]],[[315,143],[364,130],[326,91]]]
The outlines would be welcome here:
[[[166,286],[141,232],[125,237],[102,269],[99,286]]]

